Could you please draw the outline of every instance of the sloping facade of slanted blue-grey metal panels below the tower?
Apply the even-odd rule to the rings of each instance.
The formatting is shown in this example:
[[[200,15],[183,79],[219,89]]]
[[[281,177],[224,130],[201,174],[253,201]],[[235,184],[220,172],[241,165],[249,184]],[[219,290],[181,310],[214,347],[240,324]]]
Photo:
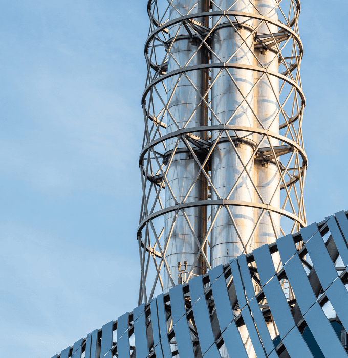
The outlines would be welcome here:
[[[53,358],[316,356],[306,330],[326,358],[346,357],[333,324],[348,327],[347,213],[177,285]]]

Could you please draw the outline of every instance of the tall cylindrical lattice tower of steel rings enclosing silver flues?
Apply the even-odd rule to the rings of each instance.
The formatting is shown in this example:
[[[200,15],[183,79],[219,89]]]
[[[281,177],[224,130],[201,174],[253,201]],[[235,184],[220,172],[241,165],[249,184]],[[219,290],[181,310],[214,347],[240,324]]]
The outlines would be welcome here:
[[[149,0],[147,10],[139,304],[306,226],[299,0]],[[181,260],[166,255],[182,236],[197,250],[178,281]],[[227,254],[221,236],[235,243]]]

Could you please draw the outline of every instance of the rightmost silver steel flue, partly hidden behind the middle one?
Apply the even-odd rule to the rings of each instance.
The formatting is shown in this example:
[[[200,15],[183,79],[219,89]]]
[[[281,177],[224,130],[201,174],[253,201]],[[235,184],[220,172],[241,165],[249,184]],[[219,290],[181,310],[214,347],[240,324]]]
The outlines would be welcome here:
[[[267,16],[277,21],[277,1],[276,0],[254,0],[257,13]],[[256,27],[257,21],[254,21]],[[277,37],[278,27],[273,24],[263,23],[258,26],[257,34],[263,36],[262,39],[270,38],[272,35]],[[277,37],[278,38],[278,37]],[[255,46],[254,65],[264,66],[267,70],[275,73],[278,72],[279,62],[277,48],[268,49],[266,46],[259,44]],[[254,108],[258,121],[255,120],[257,128],[266,129],[273,133],[279,134],[279,79],[273,75],[254,72],[255,91],[254,91]],[[258,82],[257,82],[258,81]],[[262,135],[255,135],[255,142],[262,141]],[[270,148],[271,142],[273,148],[279,146],[279,140],[276,138],[265,139],[260,148]],[[264,199],[264,202],[273,207],[280,208],[280,187],[278,185],[280,174],[275,164],[277,159],[271,161],[264,160],[262,157],[255,161],[254,177],[257,190]],[[262,203],[261,198],[255,193],[255,202]],[[261,209],[255,210],[255,222],[262,214]],[[280,215],[272,213],[273,225],[269,215],[263,215],[255,231],[255,248],[266,243],[272,243],[280,236]],[[275,236],[275,233],[277,237]]]

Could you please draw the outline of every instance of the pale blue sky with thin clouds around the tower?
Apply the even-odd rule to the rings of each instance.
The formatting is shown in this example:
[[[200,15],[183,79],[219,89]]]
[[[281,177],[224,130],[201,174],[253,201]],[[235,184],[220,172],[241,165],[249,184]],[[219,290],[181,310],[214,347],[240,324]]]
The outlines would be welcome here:
[[[346,0],[302,2],[307,220],[348,210]],[[0,13],[0,337],[50,358],[137,305],[146,2]]]

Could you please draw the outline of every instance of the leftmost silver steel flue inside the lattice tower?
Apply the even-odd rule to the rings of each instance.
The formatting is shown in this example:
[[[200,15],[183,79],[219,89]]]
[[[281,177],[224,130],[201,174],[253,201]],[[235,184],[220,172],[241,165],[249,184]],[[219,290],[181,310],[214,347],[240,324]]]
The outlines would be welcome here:
[[[197,3],[197,4],[196,4]],[[193,8],[193,9],[192,9]],[[187,13],[199,13],[209,11],[208,0],[173,0],[169,9],[169,20],[177,19]],[[207,18],[197,18],[199,23],[207,26]],[[171,26],[169,29],[169,55],[168,55],[168,73],[184,67],[191,59],[189,65],[200,65],[208,63],[208,52],[205,47],[198,48],[198,43],[190,38],[185,26],[181,23]],[[178,31],[179,30],[179,31]],[[192,81],[193,85],[190,83]],[[207,125],[208,115],[207,107],[201,103],[208,86],[208,70],[195,70],[187,73],[180,73],[169,77],[168,79],[168,110],[167,115],[167,134],[177,131],[179,128],[194,128]],[[198,91],[194,89],[195,86]],[[200,96],[201,95],[201,96]],[[197,106],[198,109],[197,109]],[[179,128],[178,128],[179,127]],[[195,133],[195,135],[206,139],[206,132]],[[177,144],[177,140],[179,143]],[[189,188],[195,181],[199,165],[193,159],[189,149],[186,147],[182,138],[175,137],[167,140],[167,158],[173,150],[172,162],[167,172],[167,181],[170,185],[165,191],[165,206],[174,206],[183,202]],[[173,195],[172,195],[173,194]],[[207,200],[207,180],[203,174],[200,174],[198,180],[191,189],[186,203]],[[173,197],[175,196],[175,198]],[[206,233],[206,207],[199,206],[185,209],[185,214],[192,226],[197,239],[202,242]],[[184,264],[187,261],[187,270],[191,270],[199,245],[195,240],[189,227],[187,219],[183,212],[170,212],[165,215],[165,245],[168,244],[166,252],[166,261],[175,284],[178,283],[178,262]],[[169,242],[168,242],[169,240]],[[202,256],[195,264],[192,272],[194,275],[206,273],[206,263]],[[164,271],[164,292],[167,292],[172,283],[169,279],[167,270]]]

